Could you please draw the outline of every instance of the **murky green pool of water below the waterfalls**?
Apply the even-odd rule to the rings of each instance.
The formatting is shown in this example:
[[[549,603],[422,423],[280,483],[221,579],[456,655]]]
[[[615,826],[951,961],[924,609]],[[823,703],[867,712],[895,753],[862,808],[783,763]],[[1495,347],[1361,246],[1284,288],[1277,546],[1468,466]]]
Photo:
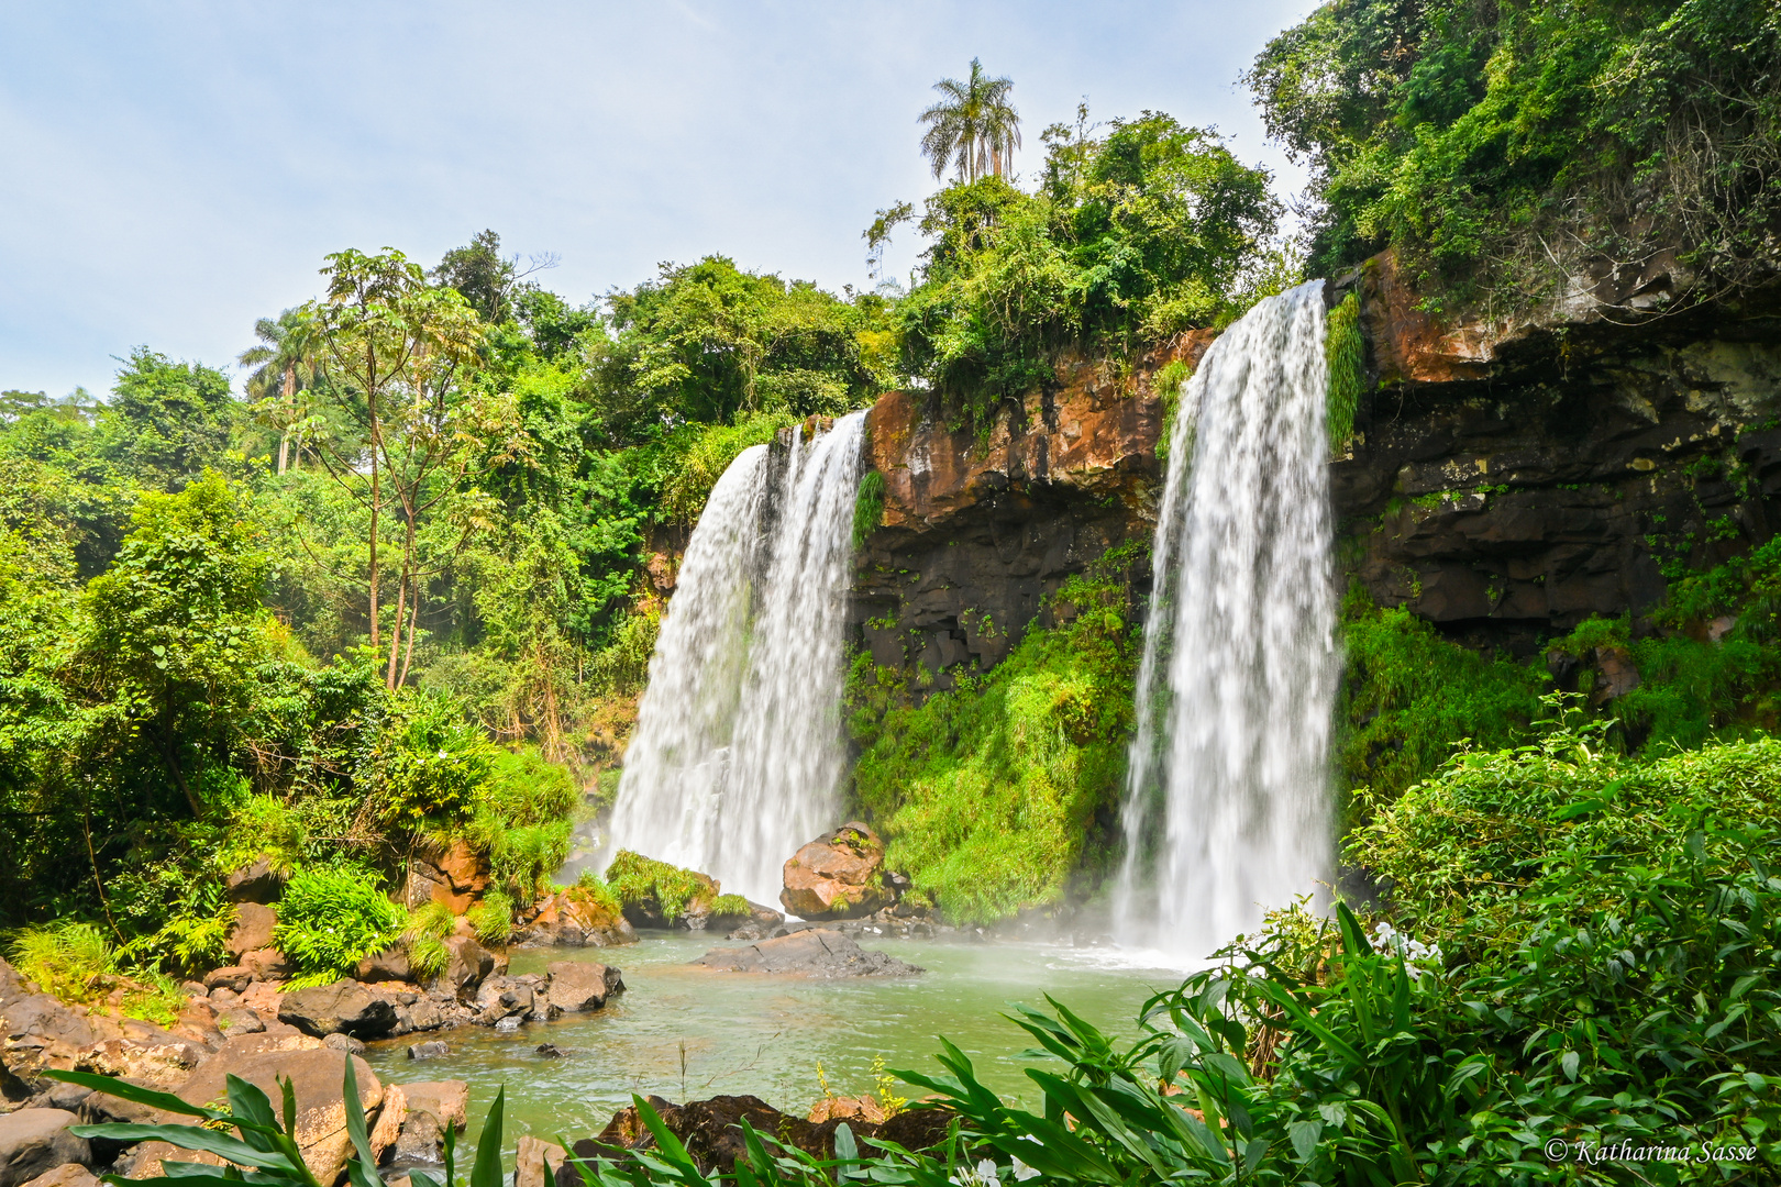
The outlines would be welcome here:
[[[376,1043],[365,1059],[379,1078],[468,1080],[474,1146],[499,1086],[506,1086],[502,1146],[520,1134],[549,1141],[591,1137],[630,1103],[632,1093],[673,1102],[753,1094],[785,1112],[823,1096],[817,1062],[841,1096],[873,1091],[873,1061],[937,1073],[935,1036],[967,1052],[978,1078],[1004,1098],[1033,1103],[1022,1075],[1031,1038],[1003,1018],[1012,1002],[1044,1005],[1049,993],[1111,1032],[1134,1032],[1143,1000],[1179,984],[1181,973],[1122,965],[1110,949],[1029,941],[915,941],[862,936],[926,968],[921,977],[812,981],[760,973],[712,973],[687,961],[720,947],[711,936],[652,934],[622,949],[538,949],[513,956],[513,973],[550,961],[613,963],[627,991],[604,1011],[527,1023],[516,1034],[459,1027]],[[408,1045],[443,1039],[451,1055],[410,1061]],[[552,1043],[563,1059],[536,1054]],[[919,1094],[903,1086],[905,1094]],[[468,1151],[459,1146],[459,1159]],[[459,1162],[468,1167],[468,1162]]]

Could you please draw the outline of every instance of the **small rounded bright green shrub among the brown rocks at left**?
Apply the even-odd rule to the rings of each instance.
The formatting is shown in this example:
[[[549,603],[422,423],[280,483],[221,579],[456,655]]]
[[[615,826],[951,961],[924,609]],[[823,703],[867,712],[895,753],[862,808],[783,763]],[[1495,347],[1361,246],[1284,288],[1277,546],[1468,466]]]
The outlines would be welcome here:
[[[297,966],[292,988],[349,977],[362,959],[395,943],[408,915],[383,895],[381,883],[376,872],[349,867],[292,876],[272,934]]]

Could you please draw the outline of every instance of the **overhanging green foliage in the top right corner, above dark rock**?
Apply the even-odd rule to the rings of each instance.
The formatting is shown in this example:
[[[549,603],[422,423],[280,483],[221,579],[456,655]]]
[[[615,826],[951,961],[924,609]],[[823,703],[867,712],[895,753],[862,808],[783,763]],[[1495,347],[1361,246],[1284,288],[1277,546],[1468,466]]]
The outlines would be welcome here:
[[[1311,164],[1313,272],[1395,246],[1432,304],[1512,304],[1663,254],[1706,292],[1763,281],[1777,68],[1767,0],[1330,0],[1248,84]]]

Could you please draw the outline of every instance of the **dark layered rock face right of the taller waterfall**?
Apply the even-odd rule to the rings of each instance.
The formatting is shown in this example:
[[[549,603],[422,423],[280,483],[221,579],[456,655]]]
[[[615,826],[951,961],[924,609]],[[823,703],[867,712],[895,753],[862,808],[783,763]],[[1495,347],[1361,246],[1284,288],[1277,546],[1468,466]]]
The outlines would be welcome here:
[[[1354,283],[1380,386],[1330,488],[1377,603],[1528,653],[1781,529],[1776,310],[1434,327],[1389,260]]]

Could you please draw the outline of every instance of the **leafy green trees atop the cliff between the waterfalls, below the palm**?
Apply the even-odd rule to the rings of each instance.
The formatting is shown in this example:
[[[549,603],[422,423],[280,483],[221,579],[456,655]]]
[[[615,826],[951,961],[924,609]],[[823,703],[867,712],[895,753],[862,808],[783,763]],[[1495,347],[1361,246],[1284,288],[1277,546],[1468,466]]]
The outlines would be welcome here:
[[[1095,137],[1083,112],[1045,141],[1037,192],[990,173],[928,199],[921,283],[894,310],[905,372],[980,429],[1063,349],[1126,356],[1229,319],[1273,233],[1268,176],[1209,130],[1145,112]]]

